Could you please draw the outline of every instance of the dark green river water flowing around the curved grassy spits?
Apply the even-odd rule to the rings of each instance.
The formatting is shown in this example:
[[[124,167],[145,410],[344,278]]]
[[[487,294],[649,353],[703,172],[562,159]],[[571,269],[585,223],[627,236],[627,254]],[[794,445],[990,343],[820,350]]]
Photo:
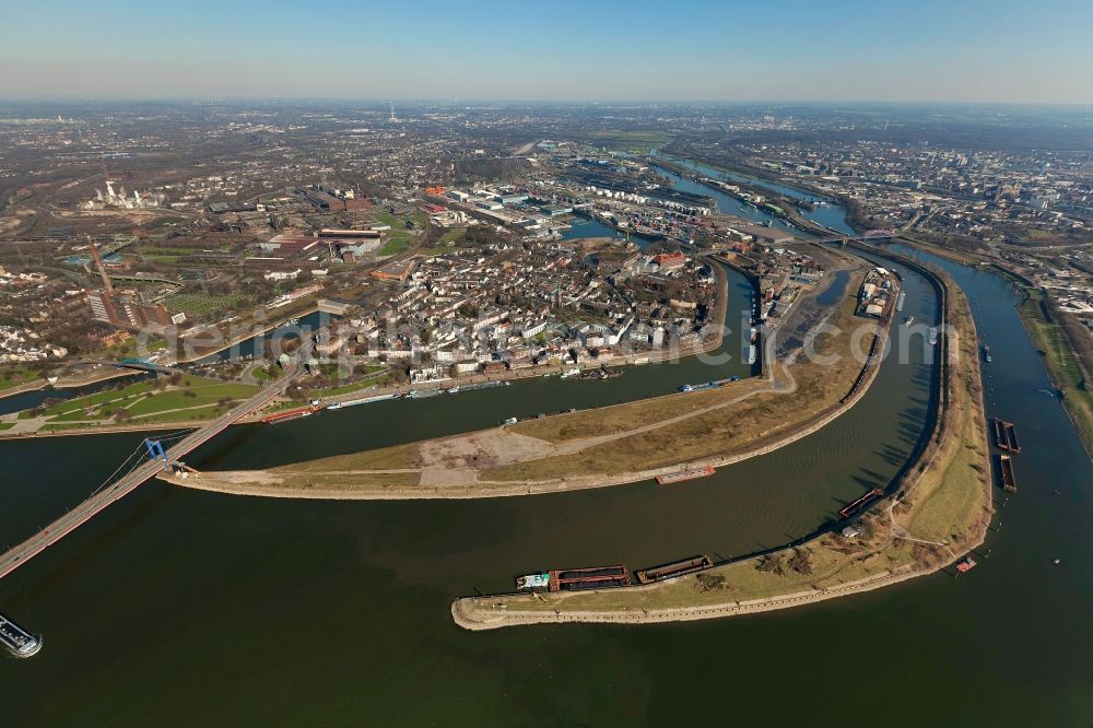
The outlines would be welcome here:
[[[457,596],[534,568],[762,549],[884,485],[927,422],[932,368],[894,352],[850,412],[766,457],[651,482],[466,502],[234,497],[151,482],[0,582],[0,611],[45,635],[0,659],[3,725],[1088,726],[1093,715],[1093,465],[996,275],[931,259],[968,292],[995,362],[988,414],[1020,428],[982,566],[800,610],[642,627],[468,633]],[[936,316],[906,278],[905,315]],[[730,325],[748,286],[730,278]],[[730,337],[729,353],[739,350]],[[898,348],[897,348],[898,349]],[[906,356],[898,354],[905,353]],[[901,360],[907,363],[901,363]],[[589,407],[742,372],[739,355],[387,402],[205,446],[198,468],[258,467]],[[79,502],[136,435],[0,443],[0,533]],[[1050,460],[1050,463],[1048,463]],[[1004,504],[1004,505],[1003,505]],[[1055,565],[1055,559],[1061,563]],[[1084,617],[1082,617],[1084,614]]]

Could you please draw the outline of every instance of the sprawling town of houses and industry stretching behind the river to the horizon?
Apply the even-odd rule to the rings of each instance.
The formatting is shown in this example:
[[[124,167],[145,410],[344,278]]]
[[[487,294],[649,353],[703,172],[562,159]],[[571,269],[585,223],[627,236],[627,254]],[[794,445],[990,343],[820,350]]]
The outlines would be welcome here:
[[[132,354],[153,330],[174,343],[149,355],[185,362],[319,308],[333,316],[319,361],[414,383],[656,360],[717,339],[722,263],[754,280],[753,324],[784,317],[826,265],[795,225],[843,234],[809,216],[830,200],[859,230],[950,236],[1093,314],[1090,250],[1014,243],[1082,236],[1071,155],[824,140],[777,115],[736,118],[744,138],[726,148],[700,117],[663,118],[674,138],[636,118],[575,134],[549,109],[442,106],[122,115],[108,137],[77,115],[0,124],[0,183],[36,180],[0,218],[7,360]],[[521,119],[539,133],[514,136]],[[788,131],[814,141],[749,140]]]

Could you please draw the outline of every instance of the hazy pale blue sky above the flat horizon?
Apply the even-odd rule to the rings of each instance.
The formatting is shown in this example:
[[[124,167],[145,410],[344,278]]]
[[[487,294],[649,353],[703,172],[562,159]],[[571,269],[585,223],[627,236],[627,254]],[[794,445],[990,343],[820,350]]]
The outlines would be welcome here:
[[[1093,0],[0,0],[0,97],[1093,103]]]

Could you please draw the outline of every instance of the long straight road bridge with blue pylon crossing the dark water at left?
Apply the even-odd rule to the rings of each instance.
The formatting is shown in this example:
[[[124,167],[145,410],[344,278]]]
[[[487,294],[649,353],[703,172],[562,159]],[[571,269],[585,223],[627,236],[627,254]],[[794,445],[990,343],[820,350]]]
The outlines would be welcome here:
[[[279,381],[266,387],[247,401],[232,409],[230,412],[222,414],[201,428],[195,430],[167,450],[168,461],[175,462],[179,460],[220,433],[224,432],[225,428],[239,418],[252,412],[254,410],[266,407],[283,394],[297,376],[299,376],[298,371],[291,371]],[[116,482],[107,484],[105,488],[94,493],[79,506],[49,524],[49,526],[35,533],[23,543],[9,549],[2,556],[0,556],[0,579],[8,576],[31,559],[45,551],[48,547],[57,543],[80,526],[91,520],[99,510],[103,510],[111,503],[132,493],[139,486],[154,478],[156,473],[163,470],[163,467],[164,463],[162,460],[146,460],[142,462]]]

